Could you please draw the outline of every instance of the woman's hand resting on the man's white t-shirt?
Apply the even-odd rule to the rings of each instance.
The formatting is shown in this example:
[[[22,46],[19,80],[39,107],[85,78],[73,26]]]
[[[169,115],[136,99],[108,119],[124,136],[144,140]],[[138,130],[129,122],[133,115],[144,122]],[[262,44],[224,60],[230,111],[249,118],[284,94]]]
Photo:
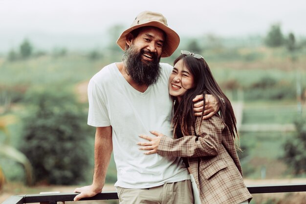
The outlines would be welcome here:
[[[137,144],[142,146],[139,149],[140,150],[149,150],[148,152],[145,152],[145,155],[151,155],[154,153],[157,153],[157,148],[160,142],[160,139],[162,136],[164,136],[163,134],[157,132],[157,131],[150,131],[151,134],[155,135],[156,137],[150,137],[150,136],[146,136],[146,135],[139,135],[139,137],[143,138],[143,139],[147,139],[148,142],[138,142]]]

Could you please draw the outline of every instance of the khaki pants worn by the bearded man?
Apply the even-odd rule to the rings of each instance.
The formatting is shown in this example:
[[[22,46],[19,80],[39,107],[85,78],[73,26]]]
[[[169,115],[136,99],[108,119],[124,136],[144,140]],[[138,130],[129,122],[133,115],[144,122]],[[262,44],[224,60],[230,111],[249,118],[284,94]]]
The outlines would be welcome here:
[[[190,180],[132,189],[117,187],[120,204],[193,204]]]

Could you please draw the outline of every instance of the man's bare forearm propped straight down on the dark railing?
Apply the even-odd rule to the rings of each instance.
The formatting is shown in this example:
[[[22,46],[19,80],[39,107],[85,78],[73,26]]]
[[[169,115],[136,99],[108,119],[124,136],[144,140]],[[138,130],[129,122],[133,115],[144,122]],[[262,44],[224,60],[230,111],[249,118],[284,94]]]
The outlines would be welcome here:
[[[109,167],[112,152],[111,126],[97,127],[94,141],[94,174],[91,185],[76,188],[78,194],[74,201],[82,198],[92,197],[102,192],[105,183],[106,172]]]

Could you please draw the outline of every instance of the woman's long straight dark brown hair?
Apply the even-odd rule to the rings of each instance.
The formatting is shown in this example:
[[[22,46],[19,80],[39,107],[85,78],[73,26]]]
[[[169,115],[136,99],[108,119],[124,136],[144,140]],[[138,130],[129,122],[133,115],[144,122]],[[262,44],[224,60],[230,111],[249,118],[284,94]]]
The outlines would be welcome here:
[[[179,60],[183,61],[183,65],[194,77],[195,87],[186,91],[186,93],[182,96],[180,103],[178,103],[176,97],[173,97],[175,101],[175,114],[172,120],[174,131],[181,131],[183,135],[190,135],[191,132],[189,127],[193,127],[194,132],[196,133],[196,116],[194,113],[194,102],[192,100],[197,95],[203,94],[203,100],[205,104],[205,94],[211,94],[215,96],[215,98],[219,102],[220,116],[223,122],[227,125],[232,137],[235,138],[236,135],[238,136],[236,127],[236,117],[231,102],[220,89],[206,61],[203,58],[197,59],[192,55],[181,54],[175,59],[174,64],[176,64]],[[221,98],[224,99],[224,102]],[[204,108],[202,116],[203,113]]]

